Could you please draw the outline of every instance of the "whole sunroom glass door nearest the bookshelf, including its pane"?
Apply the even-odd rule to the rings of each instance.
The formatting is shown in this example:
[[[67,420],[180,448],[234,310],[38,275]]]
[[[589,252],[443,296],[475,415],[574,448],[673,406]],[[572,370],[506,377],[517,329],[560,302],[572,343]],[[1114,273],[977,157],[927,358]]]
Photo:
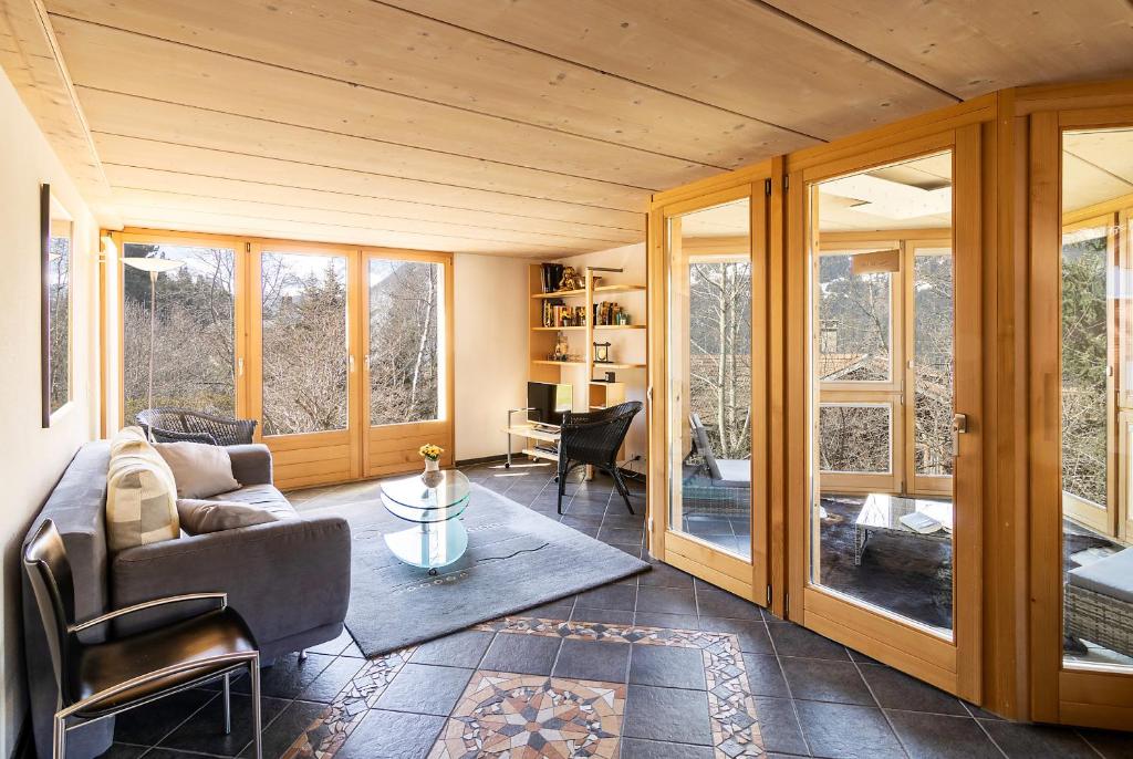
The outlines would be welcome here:
[[[766,204],[759,181],[664,210],[663,557],[759,604],[769,596]]]

